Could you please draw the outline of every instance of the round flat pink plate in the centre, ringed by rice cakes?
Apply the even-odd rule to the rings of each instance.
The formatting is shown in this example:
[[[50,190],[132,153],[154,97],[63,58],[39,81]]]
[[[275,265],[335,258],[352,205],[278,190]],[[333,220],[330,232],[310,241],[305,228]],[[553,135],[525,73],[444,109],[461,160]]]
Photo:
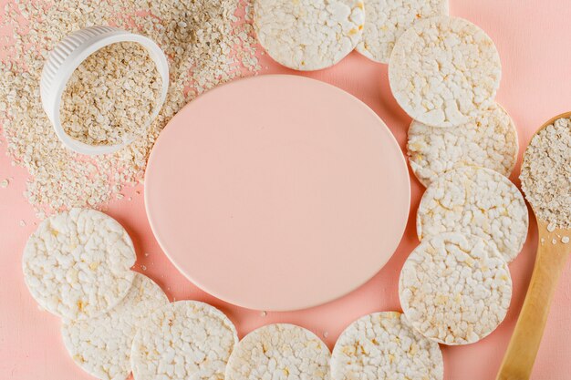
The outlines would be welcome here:
[[[151,228],[207,293],[251,309],[326,303],[396,250],[410,181],[383,121],[306,77],[217,87],[171,119],[145,178]]]

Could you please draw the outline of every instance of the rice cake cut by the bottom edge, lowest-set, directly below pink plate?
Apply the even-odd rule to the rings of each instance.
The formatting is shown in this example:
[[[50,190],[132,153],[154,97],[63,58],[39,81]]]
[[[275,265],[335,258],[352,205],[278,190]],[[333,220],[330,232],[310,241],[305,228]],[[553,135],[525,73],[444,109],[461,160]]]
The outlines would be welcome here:
[[[324,380],[329,378],[330,357],[316,334],[293,324],[269,324],[236,346],[226,380]]]

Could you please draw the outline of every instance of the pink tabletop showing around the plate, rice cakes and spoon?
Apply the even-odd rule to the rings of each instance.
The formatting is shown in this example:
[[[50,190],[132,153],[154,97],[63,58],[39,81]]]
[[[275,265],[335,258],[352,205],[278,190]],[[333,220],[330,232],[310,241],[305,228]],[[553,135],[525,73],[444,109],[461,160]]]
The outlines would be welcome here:
[[[571,4],[568,0],[451,0],[452,15],[470,19],[492,36],[504,65],[498,100],[512,114],[524,147],[535,128],[571,110]],[[287,72],[267,63],[266,72]],[[336,67],[311,74],[347,90],[373,108],[404,147],[410,119],[389,92],[387,68],[352,54]],[[5,150],[0,146],[0,150]],[[523,150],[523,149],[522,149]],[[516,173],[519,167],[516,169]],[[34,212],[22,198],[26,172],[13,168],[0,155],[0,178],[14,177],[0,189],[0,379],[91,379],[69,359],[59,336],[56,317],[37,310],[22,278],[21,252],[34,230]],[[515,179],[515,175],[513,179]],[[519,183],[516,181],[516,183]],[[422,187],[412,180],[411,214],[403,241],[388,264],[371,281],[347,296],[317,308],[296,313],[245,310],[214,299],[171,265],[154,240],[146,221],[142,196],[113,202],[109,214],[123,223],[136,244],[137,268],[155,279],[171,299],[196,299],[220,307],[234,321],[239,334],[273,322],[300,324],[324,337],[332,346],[351,321],[365,313],[399,310],[397,279],[402,263],[418,244],[414,212]],[[138,189],[141,190],[141,189]],[[26,221],[20,227],[19,221]],[[444,347],[446,379],[491,380],[514,328],[531,275],[537,231],[532,220],[524,252],[510,265],[514,279],[512,307],[498,330],[482,342],[463,347]],[[148,256],[145,253],[149,253]],[[142,266],[146,268],[143,271]],[[534,369],[534,380],[568,380],[571,374],[571,263],[567,264],[555,299]],[[327,333],[327,334],[326,334]]]

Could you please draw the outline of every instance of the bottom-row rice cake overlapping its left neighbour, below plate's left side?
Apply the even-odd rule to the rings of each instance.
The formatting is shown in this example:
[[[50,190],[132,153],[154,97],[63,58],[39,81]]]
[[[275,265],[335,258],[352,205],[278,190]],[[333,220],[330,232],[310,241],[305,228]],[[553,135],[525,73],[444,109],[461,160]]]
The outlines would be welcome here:
[[[170,303],[151,313],[135,335],[130,364],[135,380],[223,380],[238,335],[213,306]]]

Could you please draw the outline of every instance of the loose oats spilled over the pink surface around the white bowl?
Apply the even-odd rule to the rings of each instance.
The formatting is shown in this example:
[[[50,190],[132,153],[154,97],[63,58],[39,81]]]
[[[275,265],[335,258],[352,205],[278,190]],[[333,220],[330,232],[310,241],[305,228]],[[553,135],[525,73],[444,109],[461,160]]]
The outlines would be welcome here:
[[[249,0],[247,0],[249,1]],[[38,0],[0,10],[0,122],[14,165],[31,178],[26,198],[40,218],[73,206],[100,207],[142,180],[161,128],[189,100],[260,67],[246,0]],[[244,12],[241,12],[242,14]],[[129,147],[86,158],[65,149],[47,119],[39,80],[50,49],[87,26],[118,26],[148,36],[169,57],[171,87],[159,117]]]

